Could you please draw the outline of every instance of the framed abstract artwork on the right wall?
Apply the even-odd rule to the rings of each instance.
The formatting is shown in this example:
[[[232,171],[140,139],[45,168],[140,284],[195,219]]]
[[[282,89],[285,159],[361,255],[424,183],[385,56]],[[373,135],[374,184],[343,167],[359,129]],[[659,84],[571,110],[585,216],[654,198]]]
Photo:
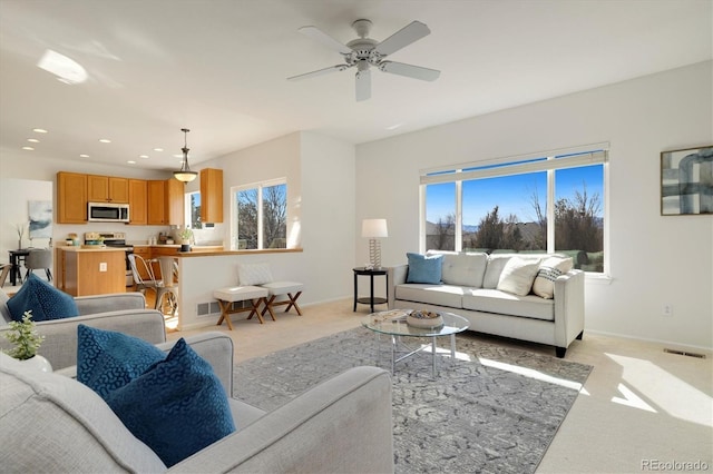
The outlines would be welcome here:
[[[692,214],[713,214],[713,145],[661,154],[661,215]]]

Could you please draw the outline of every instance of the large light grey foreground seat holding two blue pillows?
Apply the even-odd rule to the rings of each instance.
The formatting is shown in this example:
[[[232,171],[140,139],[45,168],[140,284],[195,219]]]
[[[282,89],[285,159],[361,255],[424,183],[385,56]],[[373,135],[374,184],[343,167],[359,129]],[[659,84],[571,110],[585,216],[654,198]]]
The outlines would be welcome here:
[[[205,333],[186,342],[231,394],[233,340]],[[169,470],[72,378],[0,354],[0,386],[4,472],[393,472],[391,379],[377,367],[346,371],[270,413],[229,398],[237,431]]]

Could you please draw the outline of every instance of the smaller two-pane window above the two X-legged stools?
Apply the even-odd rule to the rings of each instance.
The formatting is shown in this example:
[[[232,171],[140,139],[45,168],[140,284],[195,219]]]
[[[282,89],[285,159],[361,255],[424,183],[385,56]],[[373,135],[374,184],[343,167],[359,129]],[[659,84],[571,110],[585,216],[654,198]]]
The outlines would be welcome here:
[[[287,185],[284,179],[231,188],[231,248],[287,247]]]

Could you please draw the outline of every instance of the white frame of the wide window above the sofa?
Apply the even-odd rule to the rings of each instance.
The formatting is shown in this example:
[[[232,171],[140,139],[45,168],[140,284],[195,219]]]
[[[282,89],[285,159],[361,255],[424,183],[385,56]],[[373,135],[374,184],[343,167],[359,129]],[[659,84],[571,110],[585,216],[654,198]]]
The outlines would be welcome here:
[[[475,161],[446,167],[429,168],[420,170],[419,184],[419,248],[427,251],[427,186],[455,182],[456,184],[456,228],[455,249],[462,251],[462,184],[472,179],[507,177],[537,171],[547,171],[547,220],[555,223],[555,172],[559,169],[579,168],[592,165],[603,167],[603,248],[604,269],[598,271],[586,271],[587,277],[606,277],[609,275],[609,199],[608,199],[608,162],[609,144],[592,144],[573,148],[549,150],[544,152],[519,155]],[[555,225],[547,226],[547,253],[555,253]]]

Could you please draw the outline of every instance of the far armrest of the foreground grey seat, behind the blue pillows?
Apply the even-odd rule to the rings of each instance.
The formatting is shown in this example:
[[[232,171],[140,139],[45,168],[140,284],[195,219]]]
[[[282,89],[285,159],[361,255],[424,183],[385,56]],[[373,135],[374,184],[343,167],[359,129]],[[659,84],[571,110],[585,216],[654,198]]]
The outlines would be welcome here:
[[[221,379],[228,397],[233,396],[233,339],[223,333],[211,332],[185,337],[186,343],[196,354],[211,364],[213,372]],[[165,353],[176,344],[175,340],[158,344]]]

